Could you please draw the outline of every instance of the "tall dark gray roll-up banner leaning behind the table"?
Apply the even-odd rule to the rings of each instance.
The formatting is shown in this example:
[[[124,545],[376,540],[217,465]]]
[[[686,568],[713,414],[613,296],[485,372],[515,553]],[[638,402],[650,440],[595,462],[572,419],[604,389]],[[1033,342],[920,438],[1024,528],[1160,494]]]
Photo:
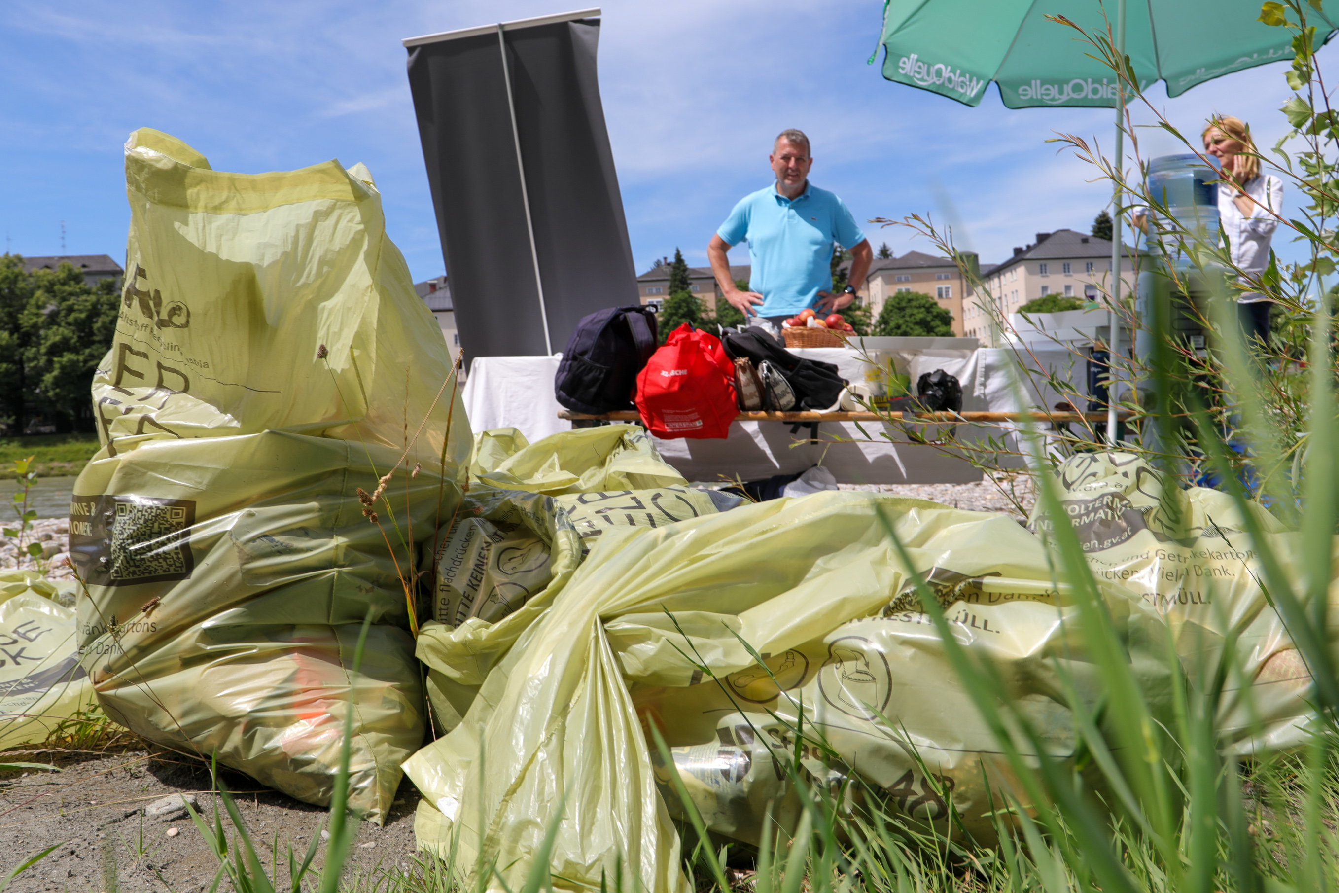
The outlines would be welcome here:
[[[582,316],[637,300],[599,15],[403,42],[467,361],[562,351]]]

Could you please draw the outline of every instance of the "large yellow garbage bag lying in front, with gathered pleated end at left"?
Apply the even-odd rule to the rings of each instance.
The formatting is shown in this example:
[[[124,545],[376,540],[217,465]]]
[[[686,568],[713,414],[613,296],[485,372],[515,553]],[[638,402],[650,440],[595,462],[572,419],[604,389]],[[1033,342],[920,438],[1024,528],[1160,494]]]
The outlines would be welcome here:
[[[971,830],[988,831],[981,777],[1008,783],[1004,762],[931,621],[907,600],[880,510],[949,602],[960,640],[1014,664],[1019,699],[1054,751],[1070,752],[1052,661],[1094,703],[1103,685],[1073,659],[1077,609],[1051,584],[1040,540],[1006,515],[826,491],[607,532],[463,722],[406,763],[424,794],[420,845],[445,851],[459,834],[465,864],[482,851],[511,884],[557,821],[556,884],[599,885],[621,858],[648,890],[686,890],[647,727],[664,730],[700,782],[714,830],[749,839],[767,799],[778,818],[790,809],[775,760],[791,759],[794,742],[775,718],[794,723],[801,703],[805,726],[908,813],[941,817],[924,760],[955,787]],[[1110,608],[1150,691],[1166,691],[1161,617],[1119,592]],[[805,760],[823,771],[817,754]]]

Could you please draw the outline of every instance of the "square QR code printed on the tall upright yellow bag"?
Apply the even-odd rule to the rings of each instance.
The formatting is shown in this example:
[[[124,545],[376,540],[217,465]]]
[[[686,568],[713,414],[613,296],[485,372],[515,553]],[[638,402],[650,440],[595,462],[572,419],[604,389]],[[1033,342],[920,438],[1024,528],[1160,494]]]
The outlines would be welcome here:
[[[195,503],[185,499],[116,501],[111,527],[114,582],[183,580],[190,576],[190,527]]]

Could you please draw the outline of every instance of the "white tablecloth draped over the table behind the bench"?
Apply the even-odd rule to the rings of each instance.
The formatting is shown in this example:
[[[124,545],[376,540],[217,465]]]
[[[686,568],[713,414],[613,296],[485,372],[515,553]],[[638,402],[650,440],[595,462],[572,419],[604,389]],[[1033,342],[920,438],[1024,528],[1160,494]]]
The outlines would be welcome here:
[[[850,382],[865,379],[865,359],[849,348],[802,348],[793,353],[837,364]],[[560,355],[481,356],[470,366],[465,383],[465,410],[473,431],[518,428],[532,443],[572,427],[557,418],[562,406],[553,395],[553,379]],[[1014,353],[1008,349],[920,349],[907,355],[911,380],[924,372],[944,370],[963,386],[963,410],[1018,410],[1010,396],[1004,371]],[[1038,406],[1042,406],[1040,403]],[[795,434],[782,422],[735,422],[730,436],[718,440],[656,439],[665,462],[690,481],[714,482],[723,478],[759,481],[777,474],[795,474],[819,462],[840,483],[969,483],[981,473],[955,450],[907,443],[901,426],[886,426],[892,436],[881,436],[880,423],[823,422],[819,443],[809,443],[809,426]],[[940,435],[940,424],[917,424],[927,438]],[[864,434],[860,428],[864,428]],[[960,424],[955,432],[963,442],[999,435],[994,427]],[[866,436],[869,435],[869,436]]]

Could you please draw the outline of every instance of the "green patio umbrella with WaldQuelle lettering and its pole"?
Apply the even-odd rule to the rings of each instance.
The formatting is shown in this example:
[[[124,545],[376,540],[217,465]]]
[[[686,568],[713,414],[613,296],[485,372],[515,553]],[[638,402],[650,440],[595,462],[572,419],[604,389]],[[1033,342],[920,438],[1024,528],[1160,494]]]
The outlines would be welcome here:
[[[1334,0],[1331,0],[1332,3]],[[1123,153],[1125,96],[1111,70],[1079,35],[1046,16],[1065,16],[1089,33],[1107,32],[1130,58],[1141,87],[1165,80],[1169,96],[1253,66],[1292,59],[1292,32],[1257,21],[1260,0],[888,0],[880,37],[884,78],[979,106],[991,82],[1010,108],[1114,107],[1115,158]],[[1335,31],[1308,8],[1316,44]],[[1121,216],[1113,214],[1113,295],[1119,297]],[[1111,313],[1113,356],[1117,335]],[[1114,370],[1114,364],[1111,367]],[[1113,392],[1114,396],[1114,392]],[[1115,438],[1110,402],[1107,442]]]

